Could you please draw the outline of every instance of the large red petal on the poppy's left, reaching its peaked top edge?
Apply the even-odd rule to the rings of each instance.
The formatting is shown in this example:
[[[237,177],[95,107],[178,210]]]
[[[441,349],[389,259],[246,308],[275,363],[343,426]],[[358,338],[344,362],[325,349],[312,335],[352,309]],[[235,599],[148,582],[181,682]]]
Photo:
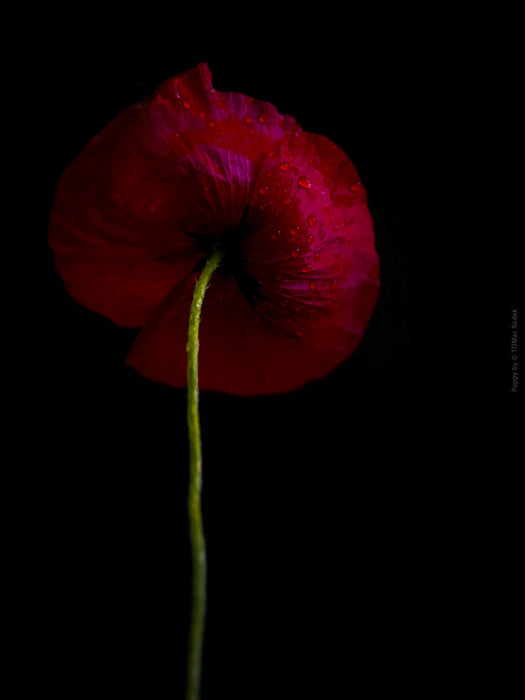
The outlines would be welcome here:
[[[184,232],[238,221],[271,144],[298,129],[268,103],[213,90],[205,64],[122,112],[57,187],[49,243],[71,295],[143,325],[198,260]]]

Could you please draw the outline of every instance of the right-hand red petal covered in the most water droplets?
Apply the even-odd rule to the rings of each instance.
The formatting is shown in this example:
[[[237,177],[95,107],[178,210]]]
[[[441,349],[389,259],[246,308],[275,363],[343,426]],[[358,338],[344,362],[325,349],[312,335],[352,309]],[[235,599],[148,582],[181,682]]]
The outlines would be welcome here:
[[[379,260],[366,192],[329,139],[283,139],[255,187],[244,259],[264,279],[265,315],[297,329],[334,362],[362,336],[379,292]],[[313,347],[308,350],[314,352]]]

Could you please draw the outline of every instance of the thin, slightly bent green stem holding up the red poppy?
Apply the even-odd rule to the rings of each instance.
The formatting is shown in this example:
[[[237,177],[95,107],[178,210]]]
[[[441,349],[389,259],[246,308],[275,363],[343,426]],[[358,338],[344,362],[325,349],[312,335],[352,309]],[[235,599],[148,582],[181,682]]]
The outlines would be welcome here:
[[[188,512],[193,561],[193,601],[188,646],[186,700],[198,700],[206,613],[206,547],[202,528],[200,494],[202,485],[202,450],[199,423],[199,323],[202,302],[210,278],[220,263],[222,251],[216,249],[208,258],[193,292],[188,330],[188,434],[190,445],[190,485]]]

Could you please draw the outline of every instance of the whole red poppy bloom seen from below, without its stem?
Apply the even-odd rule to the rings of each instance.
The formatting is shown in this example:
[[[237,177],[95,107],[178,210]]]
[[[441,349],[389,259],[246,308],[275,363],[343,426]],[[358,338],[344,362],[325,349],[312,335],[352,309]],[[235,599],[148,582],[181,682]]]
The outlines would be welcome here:
[[[199,385],[284,392],[356,348],[379,291],[365,190],[330,140],[271,104],[212,87],[206,64],[124,110],[67,168],[49,241],[74,299],[140,327],[127,363],[186,386],[203,262]]]

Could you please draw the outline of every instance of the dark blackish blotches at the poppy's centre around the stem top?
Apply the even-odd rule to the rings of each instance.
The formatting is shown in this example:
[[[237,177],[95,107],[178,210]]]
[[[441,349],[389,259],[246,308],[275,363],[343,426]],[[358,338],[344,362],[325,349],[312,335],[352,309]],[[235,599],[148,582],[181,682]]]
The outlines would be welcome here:
[[[246,224],[247,218],[248,208],[244,210],[237,226],[230,225],[220,232],[218,241],[215,236],[206,233],[191,233],[189,231],[185,233],[193,238],[197,250],[205,253],[195,265],[193,272],[199,272],[203,269],[208,257],[218,246],[222,250],[223,259],[217,268],[217,273],[223,277],[232,276],[241,294],[244,294],[250,304],[254,306],[258,301],[264,301],[264,296],[261,294],[260,285],[255,277],[247,271],[240,248],[241,241],[250,233]]]

